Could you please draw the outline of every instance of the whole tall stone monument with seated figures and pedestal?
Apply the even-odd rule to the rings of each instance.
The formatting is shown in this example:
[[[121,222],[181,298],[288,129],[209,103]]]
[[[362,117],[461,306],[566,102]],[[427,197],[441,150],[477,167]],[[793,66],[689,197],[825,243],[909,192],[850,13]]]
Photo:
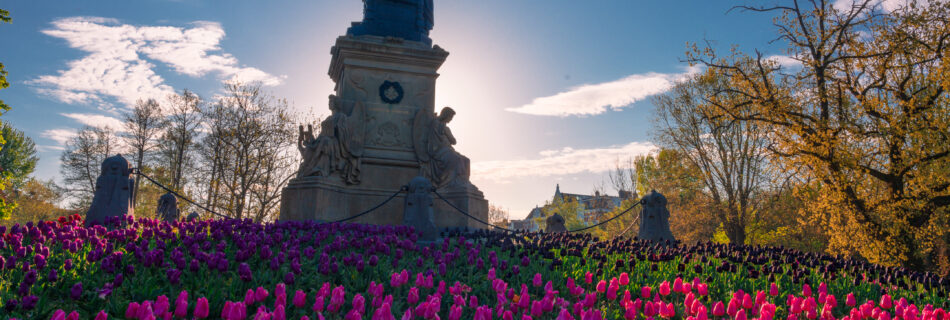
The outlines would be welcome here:
[[[453,145],[455,110],[435,113],[435,80],[448,52],[432,45],[432,0],[364,0],[363,20],[330,49],[336,83],[319,132],[301,126],[302,161],[282,191],[280,220],[336,221],[389,198],[423,176],[455,206],[488,220],[488,202],[469,181],[469,159]],[[398,225],[398,196],[351,222]],[[403,201],[396,201],[403,200]],[[438,228],[485,228],[433,203]]]

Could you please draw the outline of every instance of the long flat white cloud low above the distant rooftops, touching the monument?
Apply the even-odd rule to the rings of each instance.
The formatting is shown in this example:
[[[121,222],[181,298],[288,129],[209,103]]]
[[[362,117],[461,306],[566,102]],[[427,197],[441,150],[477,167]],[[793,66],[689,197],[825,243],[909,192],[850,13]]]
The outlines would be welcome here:
[[[472,164],[472,179],[507,183],[515,178],[562,176],[578,173],[603,173],[614,169],[617,159],[632,158],[656,150],[648,142],[604,148],[545,150],[540,158],[483,161]]]

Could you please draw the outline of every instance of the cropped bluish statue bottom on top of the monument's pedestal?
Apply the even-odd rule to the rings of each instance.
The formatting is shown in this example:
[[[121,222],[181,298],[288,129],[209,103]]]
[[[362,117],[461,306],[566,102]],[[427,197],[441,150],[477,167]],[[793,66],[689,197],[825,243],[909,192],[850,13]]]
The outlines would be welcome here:
[[[397,37],[432,45],[432,0],[363,0],[363,21],[346,30],[352,36]]]

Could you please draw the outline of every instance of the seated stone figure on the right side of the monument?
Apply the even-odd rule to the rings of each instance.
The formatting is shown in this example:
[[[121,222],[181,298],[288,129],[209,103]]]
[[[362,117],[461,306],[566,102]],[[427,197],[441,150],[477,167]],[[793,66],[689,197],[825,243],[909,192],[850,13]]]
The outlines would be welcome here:
[[[465,188],[469,182],[470,161],[455,151],[455,136],[448,124],[455,110],[445,107],[436,117],[420,110],[413,124],[413,144],[423,175],[432,179],[436,187]]]

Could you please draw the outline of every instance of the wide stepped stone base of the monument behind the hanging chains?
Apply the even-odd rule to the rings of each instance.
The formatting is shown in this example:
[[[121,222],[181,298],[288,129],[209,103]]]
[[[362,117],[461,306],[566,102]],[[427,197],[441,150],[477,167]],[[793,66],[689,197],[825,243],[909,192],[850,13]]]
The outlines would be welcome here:
[[[364,180],[358,185],[347,185],[336,175],[291,180],[281,195],[279,219],[330,222],[352,217],[382,203],[419,175],[418,166],[391,161],[364,161],[361,171],[364,179],[373,180]],[[488,221],[488,201],[475,186],[446,188],[438,192],[459,209]],[[432,197],[435,225],[439,229],[487,227],[462,215],[438,196],[433,194]],[[406,193],[401,192],[385,205],[347,222],[401,225],[405,201]]]

